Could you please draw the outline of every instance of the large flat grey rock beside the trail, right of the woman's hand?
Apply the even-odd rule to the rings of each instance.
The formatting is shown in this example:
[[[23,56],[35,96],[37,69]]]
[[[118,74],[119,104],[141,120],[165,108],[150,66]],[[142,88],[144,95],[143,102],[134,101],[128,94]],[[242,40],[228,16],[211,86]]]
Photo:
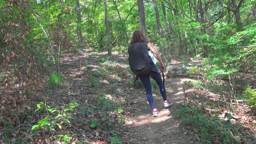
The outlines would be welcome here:
[[[189,68],[183,66],[168,66],[166,68],[166,77],[176,78],[176,77],[189,77]]]

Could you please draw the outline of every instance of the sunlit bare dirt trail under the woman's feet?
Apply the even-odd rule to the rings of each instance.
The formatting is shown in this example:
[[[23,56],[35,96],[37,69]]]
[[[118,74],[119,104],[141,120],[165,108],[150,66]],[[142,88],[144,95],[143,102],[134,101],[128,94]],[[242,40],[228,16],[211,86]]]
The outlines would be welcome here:
[[[156,108],[159,114],[153,117],[150,105],[146,101],[138,102],[137,111],[131,114],[129,136],[124,139],[125,144],[189,144],[191,136],[186,135],[186,129],[180,124],[178,114],[178,102],[182,100],[184,81],[187,78],[170,78],[165,82],[167,98],[173,104],[164,109],[162,96],[154,96]],[[186,136],[185,136],[186,135]]]

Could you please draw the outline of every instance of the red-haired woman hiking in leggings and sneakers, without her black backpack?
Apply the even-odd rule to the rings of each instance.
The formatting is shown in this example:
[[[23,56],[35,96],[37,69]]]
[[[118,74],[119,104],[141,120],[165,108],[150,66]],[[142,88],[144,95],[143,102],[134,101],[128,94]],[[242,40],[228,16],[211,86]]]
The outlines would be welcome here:
[[[132,34],[132,40],[131,40],[130,45],[138,43],[138,42],[140,42],[140,43],[146,42],[146,44],[148,46],[148,50],[150,50],[153,54],[155,54],[157,59],[160,62],[160,64],[161,64],[160,70],[164,71],[165,67],[164,67],[164,63],[162,61],[160,54],[158,54],[158,52],[154,49],[152,44],[146,40],[144,34],[142,34],[142,32],[137,30],[137,31],[134,31]],[[153,68],[156,68],[156,65],[154,63],[153,63]],[[165,90],[164,84],[162,82],[160,73],[152,70],[148,74],[139,75],[139,78],[140,78],[142,84],[144,85],[144,88],[146,89],[146,98],[152,108],[153,116],[158,116],[158,110],[155,106],[154,98],[152,96],[152,87],[151,87],[149,77],[153,78],[159,86],[160,93],[164,99],[164,108],[168,108],[170,105],[172,105],[172,101],[167,100],[167,98],[166,98],[166,90]]]

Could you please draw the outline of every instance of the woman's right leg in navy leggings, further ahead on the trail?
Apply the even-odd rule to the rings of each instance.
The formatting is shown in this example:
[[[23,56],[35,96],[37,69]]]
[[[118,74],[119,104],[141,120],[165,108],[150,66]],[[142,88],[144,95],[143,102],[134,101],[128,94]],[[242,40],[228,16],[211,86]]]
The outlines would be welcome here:
[[[163,99],[166,101],[167,100],[167,98],[166,98],[166,90],[165,90],[164,84],[162,82],[161,74],[158,73],[158,72],[153,72],[152,71],[152,72],[149,73],[149,76],[151,76],[156,81],[156,83],[159,86],[160,93],[161,93]]]

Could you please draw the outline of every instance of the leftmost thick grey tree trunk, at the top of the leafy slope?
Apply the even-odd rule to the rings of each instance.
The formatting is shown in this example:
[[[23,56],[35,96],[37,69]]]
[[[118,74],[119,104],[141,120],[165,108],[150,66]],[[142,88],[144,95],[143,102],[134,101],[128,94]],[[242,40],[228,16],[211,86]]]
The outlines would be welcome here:
[[[81,12],[80,12],[80,4],[79,0],[76,0],[76,14],[77,14],[77,35],[78,35],[78,54],[84,54],[83,44],[83,36],[81,31]]]

